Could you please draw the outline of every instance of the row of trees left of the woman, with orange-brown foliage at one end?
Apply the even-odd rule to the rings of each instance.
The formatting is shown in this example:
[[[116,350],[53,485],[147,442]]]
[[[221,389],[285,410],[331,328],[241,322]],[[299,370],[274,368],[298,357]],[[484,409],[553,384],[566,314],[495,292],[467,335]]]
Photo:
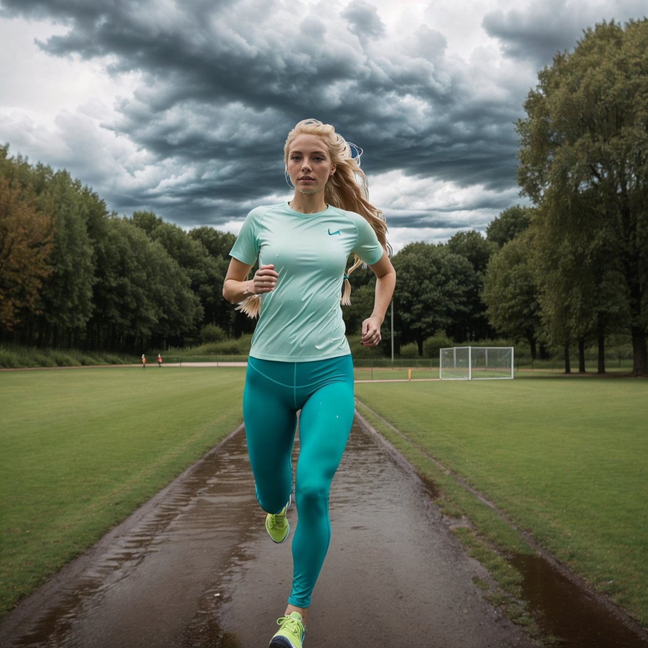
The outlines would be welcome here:
[[[0,147],[0,335],[38,347],[165,349],[246,323],[221,287],[234,235],[109,213],[65,170]]]

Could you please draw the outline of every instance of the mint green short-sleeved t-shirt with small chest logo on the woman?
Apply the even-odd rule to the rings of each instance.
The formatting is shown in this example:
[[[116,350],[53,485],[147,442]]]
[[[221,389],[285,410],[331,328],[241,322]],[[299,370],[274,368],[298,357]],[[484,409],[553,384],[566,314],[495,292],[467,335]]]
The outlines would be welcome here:
[[[260,295],[250,356],[309,362],[350,353],[340,296],[352,252],[368,265],[383,253],[369,223],[352,211],[301,214],[280,203],[248,214],[230,255],[250,265],[259,257],[279,273],[275,290]]]

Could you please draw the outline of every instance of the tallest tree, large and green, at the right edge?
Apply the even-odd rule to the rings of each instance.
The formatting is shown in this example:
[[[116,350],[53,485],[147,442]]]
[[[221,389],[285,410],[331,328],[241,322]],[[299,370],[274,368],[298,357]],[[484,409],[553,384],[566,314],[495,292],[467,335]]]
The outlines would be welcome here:
[[[648,19],[586,30],[539,73],[517,124],[518,181],[545,207],[543,231],[595,244],[596,263],[619,273],[637,375],[648,373],[647,51]]]

